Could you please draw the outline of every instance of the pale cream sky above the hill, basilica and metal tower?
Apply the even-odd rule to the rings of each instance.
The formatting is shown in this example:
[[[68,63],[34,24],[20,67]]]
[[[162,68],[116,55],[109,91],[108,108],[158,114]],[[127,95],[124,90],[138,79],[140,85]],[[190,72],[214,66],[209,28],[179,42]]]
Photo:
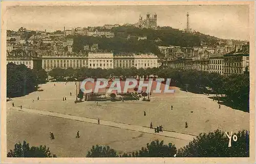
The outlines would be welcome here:
[[[158,26],[186,28],[223,39],[249,40],[249,7],[246,5],[201,6],[9,6],[7,29],[17,31],[94,27],[138,22],[139,15],[157,14]]]

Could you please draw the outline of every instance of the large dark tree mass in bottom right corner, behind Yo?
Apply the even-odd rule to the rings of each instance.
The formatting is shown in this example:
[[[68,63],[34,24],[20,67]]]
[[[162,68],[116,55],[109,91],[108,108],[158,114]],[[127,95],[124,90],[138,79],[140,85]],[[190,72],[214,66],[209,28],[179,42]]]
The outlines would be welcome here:
[[[249,157],[249,133],[243,130],[233,135],[237,135],[238,140],[234,142],[231,138],[231,147],[228,147],[229,138],[224,132],[201,133],[180,148],[177,157]]]

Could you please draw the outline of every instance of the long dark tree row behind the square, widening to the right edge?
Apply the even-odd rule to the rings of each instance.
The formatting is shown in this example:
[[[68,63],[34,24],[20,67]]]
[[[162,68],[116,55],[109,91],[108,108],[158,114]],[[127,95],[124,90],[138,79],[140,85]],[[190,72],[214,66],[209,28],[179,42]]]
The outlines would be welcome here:
[[[49,75],[56,80],[64,80],[66,77],[83,80],[87,77],[109,78],[110,75],[123,77],[140,77],[156,75],[159,78],[171,78],[172,85],[198,93],[224,94],[223,101],[230,103],[234,108],[249,111],[249,75],[234,74],[222,76],[218,73],[208,73],[196,70],[162,69],[162,68],[114,68],[114,69],[93,69],[93,68],[54,68]]]

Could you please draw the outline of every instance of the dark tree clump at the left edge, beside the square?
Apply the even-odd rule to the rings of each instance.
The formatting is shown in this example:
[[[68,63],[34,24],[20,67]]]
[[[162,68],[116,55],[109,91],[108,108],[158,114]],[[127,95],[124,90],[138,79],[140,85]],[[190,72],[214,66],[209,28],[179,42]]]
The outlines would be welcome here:
[[[29,69],[26,65],[7,64],[7,97],[24,96],[34,91],[38,84],[45,83],[44,69]]]

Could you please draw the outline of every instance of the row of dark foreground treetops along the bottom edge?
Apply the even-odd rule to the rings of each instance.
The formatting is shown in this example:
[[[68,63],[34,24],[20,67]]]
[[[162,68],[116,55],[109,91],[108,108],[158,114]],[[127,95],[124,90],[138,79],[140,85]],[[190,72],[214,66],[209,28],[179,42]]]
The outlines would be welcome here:
[[[116,150],[109,146],[93,146],[86,157],[249,157],[249,132],[239,131],[237,141],[231,139],[231,147],[228,147],[229,138],[227,135],[216,130],[214,132],[201,133],[183,148],[177,150],[172,143],[165,145],[163,140],[155,140],[141,150],[131,153],[117,154]],[[15,144],[15,148],[10,150],[7,157],[56,157],[51,155],[46,146],[29,147],[24,141],[23,145]]]

